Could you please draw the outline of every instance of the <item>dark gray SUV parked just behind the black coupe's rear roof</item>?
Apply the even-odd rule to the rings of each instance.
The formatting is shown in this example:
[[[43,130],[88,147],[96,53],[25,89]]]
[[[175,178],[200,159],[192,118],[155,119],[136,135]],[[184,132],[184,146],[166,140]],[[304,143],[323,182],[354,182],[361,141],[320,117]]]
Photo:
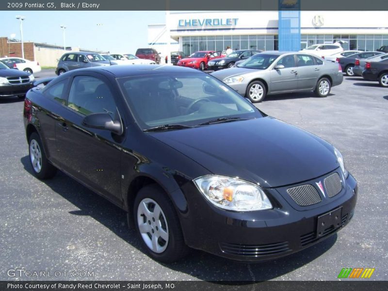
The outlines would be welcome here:
[[[78,51],[65,53],[58,62],[55,74],[61,75],[67,71],[88,68],[99,65],[117,65],[105,60],[103,56],[96,52]]]

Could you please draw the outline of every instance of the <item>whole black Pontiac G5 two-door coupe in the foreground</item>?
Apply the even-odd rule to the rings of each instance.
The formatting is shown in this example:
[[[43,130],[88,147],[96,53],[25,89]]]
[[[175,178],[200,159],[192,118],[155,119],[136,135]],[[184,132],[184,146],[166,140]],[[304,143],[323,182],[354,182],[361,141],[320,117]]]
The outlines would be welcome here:
[[[188,247],[282,257],[354,213],[356,180],[334,146],[190,68],[70,71],[29,91],[24,124],[37,178],[60,169],[126,210],[163,262]]]

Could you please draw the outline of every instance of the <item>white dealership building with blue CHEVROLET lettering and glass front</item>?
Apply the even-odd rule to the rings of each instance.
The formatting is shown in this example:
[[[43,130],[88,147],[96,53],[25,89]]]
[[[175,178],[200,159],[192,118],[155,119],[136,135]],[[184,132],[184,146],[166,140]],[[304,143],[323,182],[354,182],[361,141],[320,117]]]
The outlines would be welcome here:
[[[282,37],[292,33],[298,35],[297,49],[339,40],[345,41],[345,50],[370,51],[388,45],[387,11],[298,11],[297,19],[290,16],[287,21],[279,21],[279,15],[278,11],[174,12],[166,15],[165,24],[148,25],[148,46],[163,57],[168,43],[171,51],[186,55],[227,46],[278,50]]]

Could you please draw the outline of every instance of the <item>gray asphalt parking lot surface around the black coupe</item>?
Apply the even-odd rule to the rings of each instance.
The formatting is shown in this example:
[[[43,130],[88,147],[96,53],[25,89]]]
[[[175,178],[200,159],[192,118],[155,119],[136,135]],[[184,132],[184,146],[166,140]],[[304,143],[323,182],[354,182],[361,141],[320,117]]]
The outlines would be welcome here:
[[[43,70],[36,78],[52,75],[53,70]],[[344,77],[326,98],[312,92],[275,95],[256,106],[343,154],[359,195],[355,216],[338,234],[265,263],[237,263],[195,250],[183,261],[158,263],[127,229],[123,210],[61,172],[47,181],[32,176],[23,101],[7,97],[0,99],[0,280],[337,280],[347,267],[375,268],[370,280],[387,280],[387,88]],[[15,268],[92,275],[7,275]]]

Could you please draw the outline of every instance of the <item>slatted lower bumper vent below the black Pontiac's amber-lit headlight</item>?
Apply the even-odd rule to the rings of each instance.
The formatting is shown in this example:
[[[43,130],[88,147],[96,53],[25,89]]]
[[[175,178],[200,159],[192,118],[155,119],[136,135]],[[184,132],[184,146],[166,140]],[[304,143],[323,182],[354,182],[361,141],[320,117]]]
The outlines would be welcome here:
[[[289,248],[288,242],[277,242],[277,243],[261,244],[261,245],[251,245],[251,244],[243,245],[243,244],[221,242],[220,248],[223,252],[227,254],[245,256],[245,257],[269,256],[269,255],[281,254],[291,250]]]

